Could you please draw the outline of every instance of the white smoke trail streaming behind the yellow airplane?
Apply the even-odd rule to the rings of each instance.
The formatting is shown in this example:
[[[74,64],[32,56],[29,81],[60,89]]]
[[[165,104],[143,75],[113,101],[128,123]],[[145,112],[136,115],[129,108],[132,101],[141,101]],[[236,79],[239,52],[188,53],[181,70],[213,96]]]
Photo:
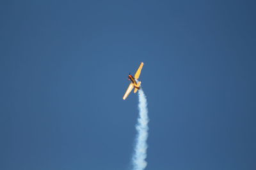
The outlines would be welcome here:
[[[147,98],[142,89],[139,90],[139,117],[136,129],[138,136],[136,138],[136,146],[134,155],[132,156],[132,164],[134,170],[143,170],[147,166],[145,159],[147,158],[147,138],[148,138],[148,108]]]

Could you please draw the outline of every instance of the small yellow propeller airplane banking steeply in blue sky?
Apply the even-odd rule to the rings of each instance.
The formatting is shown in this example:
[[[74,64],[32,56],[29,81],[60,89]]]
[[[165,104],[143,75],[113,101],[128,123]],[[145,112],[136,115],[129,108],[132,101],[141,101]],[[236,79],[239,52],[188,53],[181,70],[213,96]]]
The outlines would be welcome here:
[[[134,89],[134,93],[136,93],[138,91],[138,89],[140,89],[140,84],[141,84],[141,81],[138,81],[138,78],[140,77],[140,73],[141,73],[141,69],[143,67],[143,62],[141,62],[140,64],[140,67],[138,68],[135,76],[133,77],[131,74],[129,74],[128,76],[128,80],[132,81],[128,87],[128,89],[126,90],[125,94],[124,94],[124,97],[123,99],[125,100],[129,94],[131,93],[133,87],[135,87]]]

